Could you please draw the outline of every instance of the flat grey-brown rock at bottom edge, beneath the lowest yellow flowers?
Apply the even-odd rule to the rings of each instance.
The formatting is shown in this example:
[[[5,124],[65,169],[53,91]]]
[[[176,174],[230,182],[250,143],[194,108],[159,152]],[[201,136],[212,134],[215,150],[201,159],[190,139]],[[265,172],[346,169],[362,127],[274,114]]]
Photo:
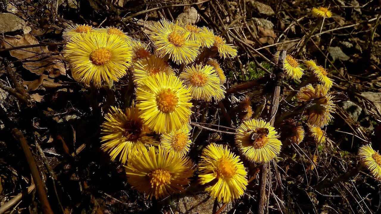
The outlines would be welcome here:
[[[186,196],[179,200],[178,210],[173,210],[174,213],[197,213],[197,214],[213,214],[213,206],[215,199],[211,198],[209,194],[200,194],[196,196]],[[217,210],[221,208],[222,203],[218,203]],[[220,212],[226,214],[232,208],[232,203],[228,203],[226,207]]]

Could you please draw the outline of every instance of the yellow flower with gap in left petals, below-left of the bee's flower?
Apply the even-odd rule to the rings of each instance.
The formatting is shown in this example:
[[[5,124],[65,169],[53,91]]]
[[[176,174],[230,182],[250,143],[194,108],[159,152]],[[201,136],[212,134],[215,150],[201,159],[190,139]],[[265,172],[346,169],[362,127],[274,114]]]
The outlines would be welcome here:
[[[199,163],[199,182],[210,184],[205,190],[219,202],[240,198],[248,184],[247,172],[237,155],[223,145],[208,145]]]

